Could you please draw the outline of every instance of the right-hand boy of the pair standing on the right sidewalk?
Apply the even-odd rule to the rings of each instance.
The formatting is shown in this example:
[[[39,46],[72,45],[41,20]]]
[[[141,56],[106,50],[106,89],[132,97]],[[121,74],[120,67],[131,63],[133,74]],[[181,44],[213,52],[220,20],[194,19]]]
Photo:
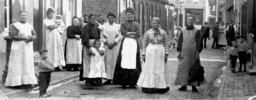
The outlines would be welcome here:
[[[244,43],[244,37],[239,36],[239,42],[237,43],[238,47],[238,58],[240,67],[238,72],[242,72],[242,65],[244,64],[244,71],[246,72],[246,63],[247,63],[247,50],[249,50],[248,45]]]

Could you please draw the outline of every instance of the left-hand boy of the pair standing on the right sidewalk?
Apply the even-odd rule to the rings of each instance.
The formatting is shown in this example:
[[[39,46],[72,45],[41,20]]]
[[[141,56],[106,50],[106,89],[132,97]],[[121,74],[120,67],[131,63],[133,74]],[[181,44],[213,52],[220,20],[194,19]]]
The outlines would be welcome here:
[[[235,67],[236,67],[236,59],[237,59],[237,42],[232,41],[232,46],[227,49],[227,56],[228,60],[231,60],[232,63],[232,72],[235,73]]]

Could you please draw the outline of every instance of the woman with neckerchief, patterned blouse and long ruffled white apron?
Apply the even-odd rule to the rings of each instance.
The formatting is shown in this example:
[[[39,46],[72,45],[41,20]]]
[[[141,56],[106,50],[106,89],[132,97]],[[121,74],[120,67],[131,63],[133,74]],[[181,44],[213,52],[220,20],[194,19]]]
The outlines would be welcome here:
[[[142,91],[164,93],[170,90],[171,73],[167,66],[168,36],[159,28],[160,19],[151,20],[152,29],[148,30],[143,39],[143,66],[137,85]]]

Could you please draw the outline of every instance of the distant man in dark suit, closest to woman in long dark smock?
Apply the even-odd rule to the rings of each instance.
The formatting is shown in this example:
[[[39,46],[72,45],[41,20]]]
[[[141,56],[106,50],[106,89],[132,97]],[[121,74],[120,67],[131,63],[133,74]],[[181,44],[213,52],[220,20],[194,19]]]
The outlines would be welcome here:
[[[206,47],[206,40],[207,38],[209,38],[209,33],[210,33],[210,27],[207,25],[207,22],[204,22],[204,25],[201,27],[201,33],[202,33],[202,36],[204,38],[204,48],[207,48]]]

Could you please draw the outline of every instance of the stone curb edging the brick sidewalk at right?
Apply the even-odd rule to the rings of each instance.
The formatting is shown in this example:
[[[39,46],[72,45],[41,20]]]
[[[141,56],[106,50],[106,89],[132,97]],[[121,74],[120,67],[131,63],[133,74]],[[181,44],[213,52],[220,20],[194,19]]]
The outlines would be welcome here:
[[[222,95],[223,95],[224,86],[225,86],[225,83],[226,83],[226,78],[227,78],[227,75],[228,75],[229,65],[230,65],[230,60],[228,60],[226,69],[224,70],[224,74],[223,74],[223,77],[221,79],[219,93],[218,93],[218,96],[215,98],[216,100],[222,100]]]

